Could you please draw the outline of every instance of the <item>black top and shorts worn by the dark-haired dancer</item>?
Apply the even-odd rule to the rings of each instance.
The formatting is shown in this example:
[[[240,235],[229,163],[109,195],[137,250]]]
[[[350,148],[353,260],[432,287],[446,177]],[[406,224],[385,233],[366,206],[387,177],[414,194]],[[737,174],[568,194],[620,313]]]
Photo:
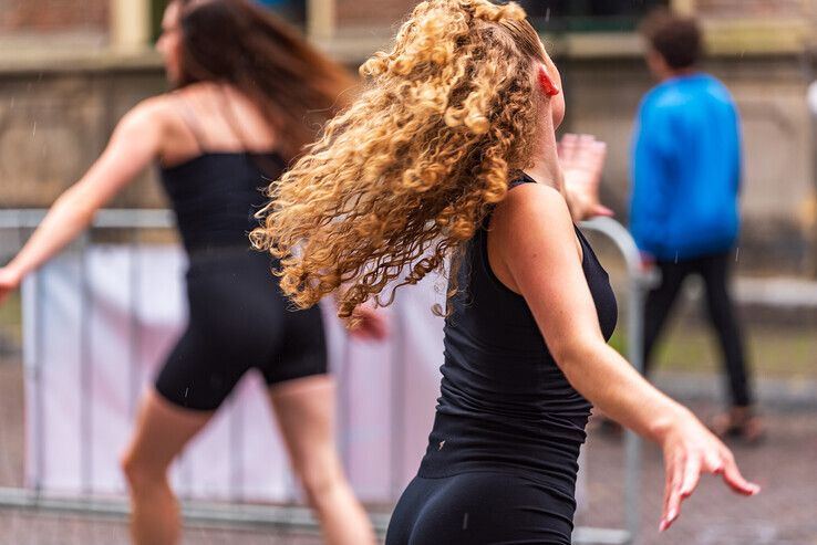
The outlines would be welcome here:
[[[189,256],[188,325],[155,384],[176,406],[215,410],[252,368],[269,385],[327,373],[320,310],[292,311],[247,239],[263,177],[282,168],[277,154],[204,153],[162,169]]]

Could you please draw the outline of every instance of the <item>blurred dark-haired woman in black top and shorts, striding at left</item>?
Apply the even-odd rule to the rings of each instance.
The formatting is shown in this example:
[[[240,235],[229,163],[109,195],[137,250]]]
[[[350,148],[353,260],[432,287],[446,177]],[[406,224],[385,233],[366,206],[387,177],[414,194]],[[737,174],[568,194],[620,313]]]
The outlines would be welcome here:
[[[269,256],[247,240],[262,205],[262,178],[280,176],[314,129],[344,105],[354,82],[244,0],[173,1],[157,46],[176,91],[122,118],[99,160],[0,269],[0,298],[158,160],[189,255],[189,324],[142,401],[123,459],[134,542],[179,541],[168,467],[256,368],[269,385],[292,467],[327,542],[373,543],[335,453],[334,387],[320,312],[291,312]],[[359,333],[382,334],[371,310],[358,313]]]

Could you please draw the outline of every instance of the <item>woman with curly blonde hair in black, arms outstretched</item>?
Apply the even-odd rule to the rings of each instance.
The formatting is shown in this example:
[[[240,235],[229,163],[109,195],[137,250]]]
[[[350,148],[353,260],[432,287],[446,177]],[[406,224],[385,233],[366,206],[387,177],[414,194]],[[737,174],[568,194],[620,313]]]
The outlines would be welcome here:
[[[603,145],[571,138],[560,161],[560,77],[524,11],[422,2],[361,72],[368,91],[271,186],[254,238],[292,301],[340,292],[347,317],[452,260],[436,419],[386,543],[569,544],[590,402],[663,448],[662,530],[701,473],[755,494],[606,343],[616,300],[573,224],[602,211]]]

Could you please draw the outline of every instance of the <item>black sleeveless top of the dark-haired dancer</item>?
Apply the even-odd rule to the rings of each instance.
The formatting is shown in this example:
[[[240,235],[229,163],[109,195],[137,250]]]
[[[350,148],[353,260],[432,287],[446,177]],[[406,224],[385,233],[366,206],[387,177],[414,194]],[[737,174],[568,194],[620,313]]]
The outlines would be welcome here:
[[[215,248],[249,248],[265,203],[261,188],[277,179],[286,163],[278,154],[204,153],[161,169],[188,253]]]

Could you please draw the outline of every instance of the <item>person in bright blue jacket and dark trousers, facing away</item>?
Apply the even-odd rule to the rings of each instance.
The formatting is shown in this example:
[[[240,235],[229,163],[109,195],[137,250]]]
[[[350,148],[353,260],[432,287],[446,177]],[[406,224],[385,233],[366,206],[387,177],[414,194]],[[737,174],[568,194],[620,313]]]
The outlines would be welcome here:
[[[644,373],[681,284],[700,275],[732,399],[713,428],[755,440],[762,425],[727,289],[740,229],[740,116],[726,86],[696,67],[702,43],[694,20],[662,10],[642,30],[648,65],[660,81],[641,102],[632,148],[630,229],[644,260],[661,272],[647,298]]]

